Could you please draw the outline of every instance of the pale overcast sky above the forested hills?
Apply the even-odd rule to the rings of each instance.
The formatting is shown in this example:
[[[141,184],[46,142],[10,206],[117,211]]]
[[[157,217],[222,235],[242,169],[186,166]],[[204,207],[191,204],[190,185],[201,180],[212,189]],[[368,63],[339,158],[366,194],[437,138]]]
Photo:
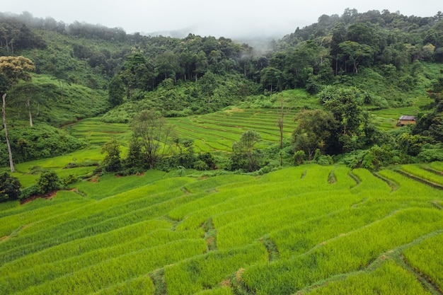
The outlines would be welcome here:
[[[9,0],[1,12],[30,12],[38,18],[123,28],[126,33],[188,29],[215,37],[263,35],[283,37],[297,27],[316,23],[326,14],[341,16],[345,8],[400,11],[405,16],[435,16],[441,0]]]

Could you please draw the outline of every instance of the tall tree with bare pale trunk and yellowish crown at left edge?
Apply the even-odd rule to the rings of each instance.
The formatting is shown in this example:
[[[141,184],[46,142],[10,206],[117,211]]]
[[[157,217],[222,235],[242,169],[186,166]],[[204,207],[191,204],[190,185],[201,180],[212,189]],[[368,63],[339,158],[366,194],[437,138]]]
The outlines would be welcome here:
[[[6,124],[6,91],[8,90],[10,83],[15,84],[20,79],[24,81],[30,81],[29,71],[33,71],[35,66],[30,59],[25,57],[0,57],[0,91],[1,91],[1,114],[3,115],[3,125],[5,129],[6,144],[8,145],[9,154],[9,166],[11,172],[15,172],[11,144],[8,139],[8,127]]]

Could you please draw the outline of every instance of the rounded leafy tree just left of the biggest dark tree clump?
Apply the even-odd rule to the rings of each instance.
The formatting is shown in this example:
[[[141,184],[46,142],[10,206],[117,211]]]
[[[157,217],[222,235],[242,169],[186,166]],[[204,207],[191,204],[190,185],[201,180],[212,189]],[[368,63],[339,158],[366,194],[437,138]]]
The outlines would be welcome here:
[[[334,144],[338,122],[330,112],[304,110],[297,115],[299,125],[292,133],[294,151],[304,151],[311,161],[316,149],[328,152]]]

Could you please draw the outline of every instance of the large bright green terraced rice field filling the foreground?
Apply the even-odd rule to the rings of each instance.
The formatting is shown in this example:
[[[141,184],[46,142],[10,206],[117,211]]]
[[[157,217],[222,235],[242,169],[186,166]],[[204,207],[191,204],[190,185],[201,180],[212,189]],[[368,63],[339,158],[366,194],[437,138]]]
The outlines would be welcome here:
[[[149,170],[0,204],[0,294],[441,294],[442,167]]]

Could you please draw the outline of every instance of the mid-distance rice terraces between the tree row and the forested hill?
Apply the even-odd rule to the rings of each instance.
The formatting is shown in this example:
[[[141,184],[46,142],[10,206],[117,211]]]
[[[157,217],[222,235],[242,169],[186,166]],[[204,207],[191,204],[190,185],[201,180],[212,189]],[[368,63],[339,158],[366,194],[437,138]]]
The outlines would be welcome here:
[[[306,103],[311,100],[295,101]],[[410,107],[371,111],[374,124],[380,129],[393,129],[396,127],[398,117],[405,114],[416,115],[420,105],[426,105],[430,101],[429,98],[417,98]],[[231,108],[206,115],[168,118],[167,120],[174,125],[176,136],[194,140],[197,151],[231,151],[234,141],[238,141],[241,134],[248,130],[255,130],[262,137],[259,147],[278,143],[280,130],[277,127],[277,119],[280,115],[277,107],[275,106],[276,109]],[[300,108],[300,106],[294,107],[284,115],[284,138],[291,137],[297,127],[294,119]],[[127,146],[131,134],[130,125],[104,123],[99,117],[81,120],[65,128],[73,136],[98,146],[102,146],[111,138]]]

